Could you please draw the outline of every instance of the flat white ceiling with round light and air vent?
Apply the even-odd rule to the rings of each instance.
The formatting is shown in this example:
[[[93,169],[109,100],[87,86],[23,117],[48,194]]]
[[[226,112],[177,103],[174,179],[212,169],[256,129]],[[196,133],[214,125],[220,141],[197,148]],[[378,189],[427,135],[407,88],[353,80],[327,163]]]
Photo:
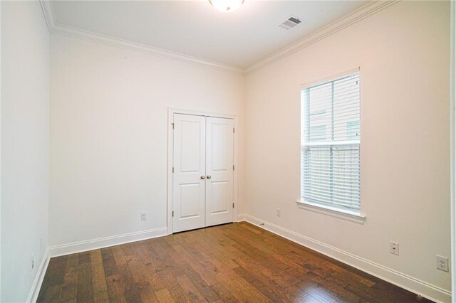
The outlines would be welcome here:
[[[56,23],[247,68],[368,1],[255,1],[224,13],[208,1],[53,1]],[[305,21],[291,31],[290,15]]]

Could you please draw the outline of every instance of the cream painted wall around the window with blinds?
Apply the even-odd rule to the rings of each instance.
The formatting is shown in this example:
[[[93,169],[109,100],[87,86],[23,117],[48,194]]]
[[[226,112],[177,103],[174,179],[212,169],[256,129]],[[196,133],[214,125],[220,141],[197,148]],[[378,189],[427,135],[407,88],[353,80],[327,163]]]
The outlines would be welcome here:
[[[450,291],[435,269],[450,256],[449,31],[449,1],[402,1],[248,75],[248,215]],[[301,85],[358,66],[364,225],[295,203]]]

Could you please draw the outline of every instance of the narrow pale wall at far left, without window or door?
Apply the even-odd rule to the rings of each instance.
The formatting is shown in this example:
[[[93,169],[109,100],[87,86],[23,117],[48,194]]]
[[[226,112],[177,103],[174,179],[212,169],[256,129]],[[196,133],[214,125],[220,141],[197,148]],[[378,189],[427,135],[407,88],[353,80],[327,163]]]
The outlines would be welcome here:
[[[38,1],[1,1],[1,87],[1,302],[25,302],[48,245],[49,33]]]

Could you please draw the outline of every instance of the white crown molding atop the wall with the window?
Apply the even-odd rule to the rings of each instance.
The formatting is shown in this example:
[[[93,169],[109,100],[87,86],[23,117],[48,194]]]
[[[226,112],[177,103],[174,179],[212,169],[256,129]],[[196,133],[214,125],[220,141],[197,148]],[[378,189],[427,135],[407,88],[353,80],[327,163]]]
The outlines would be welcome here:
[[[327,26],[320,28],[318,31],[314,31],[314,33],[311,33],[310,35],[300,39],[299,41],[296,41],[295,43],[292,43],[291,45],[282,48],[276,53],[273,53],[272,55],[269,55],[266,58],[259,60],[257,63],[250,65],[248,68],[244,70],[244,72],[246,75],[254,73],[255,71],[264,68],[267,65],[270,65],[293,53],[296,53],[298,50],[306,48],[307,46],[311,46],[312,44],[320,41],[321,39],[331,36],[333,33],[337,33],[338,31],[341,31],[343,28],[351,26],[354,23],[357,23],[363,20],[364,18],[367,18],[368,16],[377,13],[378,11],[386,9],[388,6],[391,6],[399,1],[400,0],[371,1],[368,4],[361,6],[359,9],[356,9],[355,11],[352,11],[351,13],[342,16],[341,18],[338,18],[336,21],[329,23]]]

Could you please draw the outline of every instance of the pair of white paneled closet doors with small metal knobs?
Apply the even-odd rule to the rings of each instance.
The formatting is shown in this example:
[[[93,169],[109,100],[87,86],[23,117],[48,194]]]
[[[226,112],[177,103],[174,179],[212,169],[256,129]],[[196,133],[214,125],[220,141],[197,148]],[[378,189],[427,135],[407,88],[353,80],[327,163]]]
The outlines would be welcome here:
[[[173,118],[173,233],[232,222],[233,119]]]

